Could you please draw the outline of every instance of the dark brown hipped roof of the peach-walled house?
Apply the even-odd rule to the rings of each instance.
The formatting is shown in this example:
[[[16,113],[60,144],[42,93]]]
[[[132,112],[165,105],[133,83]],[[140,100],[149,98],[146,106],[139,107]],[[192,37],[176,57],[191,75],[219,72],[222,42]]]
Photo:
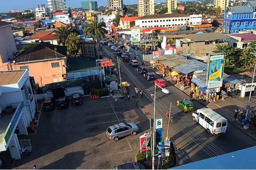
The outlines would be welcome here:
[[[55,53],[55,50],[56,53]],[[15,63],[18,62],[32,62],[32,61],[39,61],[39,60],[52,60],[56,58],[63,58],[67,57],[67,46],[61,45],[52,45],[48,42],[40,42],[35,46],[22,51],[18,54],[14,59],[10,62],[15,60]]]

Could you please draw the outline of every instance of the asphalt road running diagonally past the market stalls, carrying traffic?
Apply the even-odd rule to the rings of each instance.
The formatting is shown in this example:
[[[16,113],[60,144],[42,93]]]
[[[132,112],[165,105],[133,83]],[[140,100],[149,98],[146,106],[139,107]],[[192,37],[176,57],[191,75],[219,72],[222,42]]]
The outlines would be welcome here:
[[[109,47],[104,46],[103,48],[106,49],[106,56],[113,55],[113,51]],[[133,59],[134,56],[130,55],[130,58]],[[141,62],[139,62],[139,65],[141,65]],[[140,90],[143,90],[144,96],[148,97],[148,102],[152,102],[150,94],[154,93],[154,82],[148,82],[142,75],[137,73],[137,68],[131,67],[128,62],[121,61],[121,67],[123,70],[122,78],[131,83],[131,88],[136,85]],[[150,72],[150,70],[148,71]],[[156,75],[156,79],[160,79],[160,77]],[[228,131],[225,134],[209,135],[201,125],[192,120],[191,112],[183,113],[181,108],[176,106],[177,100],[188,99],[188,96],[170,83],[166,83],[166,86],[170,90],[170,94],[164,94],[157,88],[156,117],[164,118],[163,124],[165,125],[163,125],[163,129],[166,130],[168,122],[165,119],[165,113],[169,111],[169,105],[172,102],[174,123],[170,125],[169,136],[171,141],[175,141],[177,147],[186,151],[191,161],[207,159],[256,145],[255,139],[250,138],[232,124],[228,124]],[[198,102],[194,102],[194,105],[195,109],[204,108]],[[148,107],[153,109],[153,103]],[[220,109],[218,109],[219,111]],[[221,111],[225,111],[225,109],[223,108]],[[163,137],[165,138],[165,136]]]

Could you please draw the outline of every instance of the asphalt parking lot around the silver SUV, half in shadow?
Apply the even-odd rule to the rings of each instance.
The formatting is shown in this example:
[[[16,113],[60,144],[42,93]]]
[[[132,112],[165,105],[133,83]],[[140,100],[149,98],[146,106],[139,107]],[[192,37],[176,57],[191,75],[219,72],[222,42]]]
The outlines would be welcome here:
[[[139,127],[135,136],[114,142],[106,135],[108,126],[133,122]],[[149,121],[135,102],[113,97],[91,100],[83,96],[81,105],[41,110],[36,133],[26,136],[32,141],[32,153],[16,160],[14,169],[113,169],[134,162],[140,149],[139,136],[149,129]]]

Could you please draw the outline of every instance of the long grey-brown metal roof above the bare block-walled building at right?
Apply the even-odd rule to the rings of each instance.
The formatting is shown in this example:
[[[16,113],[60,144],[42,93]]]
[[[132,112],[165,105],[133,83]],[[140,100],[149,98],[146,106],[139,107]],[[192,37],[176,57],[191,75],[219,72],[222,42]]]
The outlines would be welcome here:
[[[220,40],[220,39],[230,38],[230,37],[218,32],[211,32],[211,33],[204,33],[204,34],[189,34],[189,35],[185,35],[185,38],[195,42],[195,41],[205,41],[205,40]]]

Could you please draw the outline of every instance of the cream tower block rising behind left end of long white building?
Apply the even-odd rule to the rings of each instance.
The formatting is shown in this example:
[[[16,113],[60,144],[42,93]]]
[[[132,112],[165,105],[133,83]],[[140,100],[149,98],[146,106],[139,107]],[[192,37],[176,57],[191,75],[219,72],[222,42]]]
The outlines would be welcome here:
[[[154,15],[154,0],[138,0],[138,16]]]

